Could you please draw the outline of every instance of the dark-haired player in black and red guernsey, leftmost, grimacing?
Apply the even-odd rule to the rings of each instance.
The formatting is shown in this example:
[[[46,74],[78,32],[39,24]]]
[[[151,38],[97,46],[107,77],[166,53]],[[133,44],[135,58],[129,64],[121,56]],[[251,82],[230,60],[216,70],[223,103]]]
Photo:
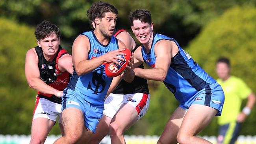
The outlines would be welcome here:
[[[28,50],[25,75],[28,85],[37,90],[33,112],[30,144],[43,144],[54,124],[59,120],[61,134],[62,90],[69,83],[73,72],[71,55],[60,46],[61,31],[46,20],[35,30],[37,44]]]

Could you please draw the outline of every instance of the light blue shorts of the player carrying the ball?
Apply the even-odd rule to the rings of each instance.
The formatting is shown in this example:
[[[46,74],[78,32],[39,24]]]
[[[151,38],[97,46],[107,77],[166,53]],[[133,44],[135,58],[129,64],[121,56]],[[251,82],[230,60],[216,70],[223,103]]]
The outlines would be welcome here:
[[[62,111],[69,107],[80,109],[83,112],[85,126],[95,133],[100,118],[102,118],[104,105],[93,105],[81,98],[78,92],[72,89],[66,88],[63,93]]]

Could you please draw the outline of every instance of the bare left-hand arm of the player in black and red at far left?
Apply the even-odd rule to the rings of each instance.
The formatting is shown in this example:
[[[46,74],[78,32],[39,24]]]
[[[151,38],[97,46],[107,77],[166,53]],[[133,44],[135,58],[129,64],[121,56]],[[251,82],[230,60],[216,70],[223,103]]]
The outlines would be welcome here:
[[[54,89],[53,87],[47,85],[44,81],[40,79],[40,73],[38,68],[38,57],[35,52],[35,48],[28,50],[26,54],[25,76],[26,76],[28,85],[31,88],[45,94],[54,94],[55,96],[60,95],[58,94],[59,90]]]

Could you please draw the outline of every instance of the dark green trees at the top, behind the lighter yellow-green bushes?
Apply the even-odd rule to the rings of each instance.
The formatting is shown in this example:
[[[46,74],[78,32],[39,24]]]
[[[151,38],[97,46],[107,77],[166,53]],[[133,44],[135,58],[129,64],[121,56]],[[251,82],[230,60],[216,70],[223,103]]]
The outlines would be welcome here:
[[[2,0],[0,16],[35,26],[43,19],[62,30],[70,45],[83,31],[90,30],[86,11],[98,0]],[[233,6],[255,6],[256,0],[106,0],[119,10],[117,28],[130,30],[128,15],[135,9],[149,9],[155,31],[170,35],[186,46],[187,42],[212,18]]]

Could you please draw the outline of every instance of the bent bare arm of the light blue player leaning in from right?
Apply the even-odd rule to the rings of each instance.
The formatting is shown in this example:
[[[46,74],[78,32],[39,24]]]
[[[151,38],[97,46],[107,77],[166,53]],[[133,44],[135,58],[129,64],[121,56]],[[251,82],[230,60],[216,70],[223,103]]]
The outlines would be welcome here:
[[[157,42],[154,46],[156,54],[155,68],[134,68],[135,76],[150,80],[164,81],[167,76],[168,68],[171,64],[172,48],[175,46],[176,45],[173,45],[170,41],[167,40]],[[136,58],[136,55],[134,57]]]

